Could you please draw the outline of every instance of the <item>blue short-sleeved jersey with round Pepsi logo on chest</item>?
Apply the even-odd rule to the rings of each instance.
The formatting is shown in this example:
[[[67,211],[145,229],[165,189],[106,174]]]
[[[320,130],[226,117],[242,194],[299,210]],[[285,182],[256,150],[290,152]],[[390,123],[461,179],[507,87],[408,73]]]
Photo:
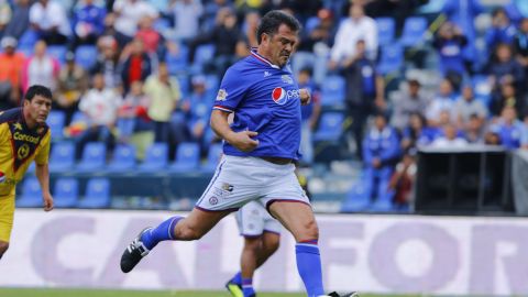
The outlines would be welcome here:
[[[289,66],[279,68],[252,51],[227,70],[213,109],[234,112],[231,129],[258,132],[258,145],[244,153],[224,142],[223,153],[298,160],[299,98],[299,87]]]

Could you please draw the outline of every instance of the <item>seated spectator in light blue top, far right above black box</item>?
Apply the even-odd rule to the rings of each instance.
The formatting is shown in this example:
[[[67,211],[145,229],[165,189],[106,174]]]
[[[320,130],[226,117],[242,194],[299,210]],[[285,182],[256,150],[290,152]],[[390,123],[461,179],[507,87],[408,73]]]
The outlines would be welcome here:
[[[514,150],[520,147],[520,139],[524,132],[522,122],[517,120],[517,111],[513,107],[504,107],[501,118],[490,127],[493,133],[498,134],[501,145]]]

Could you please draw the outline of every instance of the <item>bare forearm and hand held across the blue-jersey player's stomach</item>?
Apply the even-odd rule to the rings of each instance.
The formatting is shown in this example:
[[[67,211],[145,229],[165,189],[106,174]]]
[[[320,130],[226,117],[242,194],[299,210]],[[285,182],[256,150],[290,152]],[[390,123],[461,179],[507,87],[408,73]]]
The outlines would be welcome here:
[[[242,152],[251,152],[258,145],[258,140],[254,140],[258,133],[255,131],[234,132],[229,127],[229,112],[222,110],[213,110],[211,113],[211,128],[220,138],[229,142]]]

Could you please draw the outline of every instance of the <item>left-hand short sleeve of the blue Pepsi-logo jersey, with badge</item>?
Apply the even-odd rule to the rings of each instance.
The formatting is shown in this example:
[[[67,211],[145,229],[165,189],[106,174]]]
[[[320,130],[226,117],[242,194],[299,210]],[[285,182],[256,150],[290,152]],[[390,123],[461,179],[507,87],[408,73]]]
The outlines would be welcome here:
[[[244,98],[248,88],[249,86],[240,70],[237,68],[228,69],[220,84],[220,89],[218,90],[212,109],[234,112]]]

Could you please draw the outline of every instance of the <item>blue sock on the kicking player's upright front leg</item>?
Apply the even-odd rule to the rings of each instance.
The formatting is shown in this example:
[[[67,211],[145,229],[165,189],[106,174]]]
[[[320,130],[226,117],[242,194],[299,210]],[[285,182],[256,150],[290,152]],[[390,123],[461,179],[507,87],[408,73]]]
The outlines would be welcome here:
[[[321,257],[317,240],[299,242],[295,245],[297,255],[297,270],[305,283],[308,297],[324,295],[322,288]]]

